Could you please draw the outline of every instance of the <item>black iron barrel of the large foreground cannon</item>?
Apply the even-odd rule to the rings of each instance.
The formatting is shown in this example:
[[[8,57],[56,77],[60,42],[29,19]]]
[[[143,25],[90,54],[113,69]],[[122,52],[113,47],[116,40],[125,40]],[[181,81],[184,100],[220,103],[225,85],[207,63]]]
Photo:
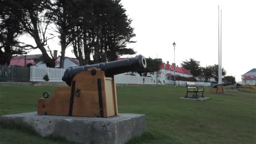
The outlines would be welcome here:
[[[70,67],[66,69],[62,80],[67,83],[67,85],[71,85],[72,79],[79,72],[88,71],[91,68],[101,69],[105,72],[106,77],[112,77],[113,75],[122,74],[125,72],[138,71],[145,69],[147,67],[147,62],[144,56],[139,55],[134,58],[123,59],[119,61],[110,61],[106,63],[85,65],[81,67]]]

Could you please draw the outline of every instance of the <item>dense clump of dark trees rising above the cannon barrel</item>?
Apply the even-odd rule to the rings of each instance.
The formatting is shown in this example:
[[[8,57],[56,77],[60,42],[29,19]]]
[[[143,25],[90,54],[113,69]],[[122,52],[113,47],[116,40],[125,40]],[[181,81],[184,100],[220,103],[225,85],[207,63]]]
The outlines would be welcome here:
[[[115,61],[119,56],[135,54],[127,43],[134,43],[131,19],[120,0],[77,0],[72,28],[73,52],[81,65]],[[93,61],[91,61],[91,57]]]

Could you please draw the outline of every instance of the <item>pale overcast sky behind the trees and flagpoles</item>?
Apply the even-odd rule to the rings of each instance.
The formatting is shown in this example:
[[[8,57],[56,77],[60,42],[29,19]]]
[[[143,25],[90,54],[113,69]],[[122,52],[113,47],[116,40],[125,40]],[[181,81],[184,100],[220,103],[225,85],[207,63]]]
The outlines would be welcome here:
[[[137,41],[137,54],[173,63],[189,58],[201,66],[218,64],[218,5],[222,9],[222,67],[241,81],[256,68],[256,0],[122,0]],[[55,41],[50,48],[60,51]],[[75,57],[72,48],[66,56]],[[29,54],[40,53],[34,50]]]

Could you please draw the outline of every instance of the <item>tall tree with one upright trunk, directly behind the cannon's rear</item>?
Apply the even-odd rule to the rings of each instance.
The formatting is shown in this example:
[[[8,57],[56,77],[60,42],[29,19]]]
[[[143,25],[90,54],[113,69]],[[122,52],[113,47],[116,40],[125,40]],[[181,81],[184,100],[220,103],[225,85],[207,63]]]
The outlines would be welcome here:
[[[51,0],[47,18],[56,26],[54,29],[59,33],[61,45],[60,67],[64,67],[65,51],[69,44],[74,40],[72,37],[72,29],[78,22],[74,16],[77,13],[77,8],[74,5],[74,0]]]

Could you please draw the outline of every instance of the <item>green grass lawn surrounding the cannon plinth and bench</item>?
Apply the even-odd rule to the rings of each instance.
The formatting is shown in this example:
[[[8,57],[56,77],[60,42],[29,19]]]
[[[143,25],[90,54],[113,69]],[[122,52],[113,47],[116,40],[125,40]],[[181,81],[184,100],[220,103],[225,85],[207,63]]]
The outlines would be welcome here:
[[[51,86],[1,86],[0,115],[33,112]],[[146,115],[146,133],[129,144],[255,144],[256,93],[208,93],[207,101],[186,101],[185,87],[117,87],[120,113]],[[0,144],[68,144],[35,133],[0,127]]]

